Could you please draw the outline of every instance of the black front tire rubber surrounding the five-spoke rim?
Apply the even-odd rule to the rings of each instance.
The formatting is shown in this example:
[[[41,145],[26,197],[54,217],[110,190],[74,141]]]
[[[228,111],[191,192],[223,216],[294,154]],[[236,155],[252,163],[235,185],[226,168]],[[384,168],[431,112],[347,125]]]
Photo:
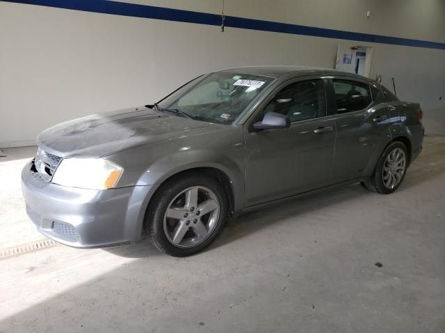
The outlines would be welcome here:
[[[211,189],[213,194],[216,195],[219,201],[219,214],[218,220],[211,231],[211,234],[202,241],[202,243],[197,244],[193,247],[179,247],[175,246],[172,241],[168,239],[164,230],[164,215],[168,209],[172,200],[177,197],[181,191],[188,189],[189,187],[202,186]],[[161,187],[156,191],[154,197],[152,198],[149,207],[147,208],[147,213],[145,214],[145,231],[152,239],[152,242],[156,248],[161,252],[171,255],[173,257],[186,257],[189,255],[194,255],[198,253],[216,238],[220,230],[223,228],[225,222],[227,221],[227,195],[220,183],[210,176],[202,175],[191,172],[181,174],[179,176],[173,177],[167,180]]]

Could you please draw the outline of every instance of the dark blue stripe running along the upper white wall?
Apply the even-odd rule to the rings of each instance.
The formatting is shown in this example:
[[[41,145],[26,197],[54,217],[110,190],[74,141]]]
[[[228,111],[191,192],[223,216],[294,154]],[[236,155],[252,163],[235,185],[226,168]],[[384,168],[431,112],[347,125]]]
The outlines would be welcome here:
[[[147,19],[164,19],[175,22],[188,22],[219,26],[221,16],[207,12],[193,12],[173,8],[145,6],[136,3],[125,3],[108,0],[5,0],[3,2],[27,3],[31,5],[83,10],[86,12],[99,12],[103,14],[122,15],[129,17],[143,17]],[[262,19],[248,19],[245,17],[226,16],[225,26],[243,28],[257,31],[271,31],[275,33],[290,33],[293,35],[306,35],[314,37],[334,38],[339,40],[356,40],[380,44],[424,47],[427,49],[445,50],[445,43],[429,42],[426,40],[411,40],[409,38],[371,35],[369,33],[354,33],[313,26],[300,26],[280,22],[265,21]]]

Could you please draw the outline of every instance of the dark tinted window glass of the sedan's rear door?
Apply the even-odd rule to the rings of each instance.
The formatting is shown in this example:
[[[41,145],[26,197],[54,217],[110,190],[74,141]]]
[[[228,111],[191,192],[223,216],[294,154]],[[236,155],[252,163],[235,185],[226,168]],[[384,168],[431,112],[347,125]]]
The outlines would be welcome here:
[[[365,109],[371,104],[369,85],[349,80],[333,80],[337,114]]]

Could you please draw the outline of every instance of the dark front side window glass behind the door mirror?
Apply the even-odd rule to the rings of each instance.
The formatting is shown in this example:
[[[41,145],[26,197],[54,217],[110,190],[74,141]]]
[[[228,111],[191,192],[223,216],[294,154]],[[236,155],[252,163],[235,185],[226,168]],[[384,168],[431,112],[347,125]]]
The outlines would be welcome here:
[[[302,121],[326,115],[323,80],[292,83],[278,92],[266,106],[264,113],[277,112],[293,121]]]

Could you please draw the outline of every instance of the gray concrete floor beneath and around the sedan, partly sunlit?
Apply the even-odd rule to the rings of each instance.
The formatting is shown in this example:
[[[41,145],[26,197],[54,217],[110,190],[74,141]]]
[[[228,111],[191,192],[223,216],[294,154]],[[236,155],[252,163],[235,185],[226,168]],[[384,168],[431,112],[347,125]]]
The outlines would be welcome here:
[[[8,223],[26,229],[15,241],[34,231],[17,224],[23,161],[2,161],[5,246]],[[444,198],[445,137],[426,137],[396,193],[350,186],[254,212],[194,257],[144,241],[3,259],[0,332],[445,332]]]

